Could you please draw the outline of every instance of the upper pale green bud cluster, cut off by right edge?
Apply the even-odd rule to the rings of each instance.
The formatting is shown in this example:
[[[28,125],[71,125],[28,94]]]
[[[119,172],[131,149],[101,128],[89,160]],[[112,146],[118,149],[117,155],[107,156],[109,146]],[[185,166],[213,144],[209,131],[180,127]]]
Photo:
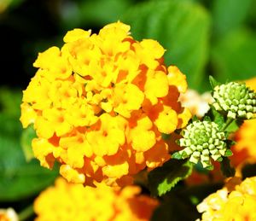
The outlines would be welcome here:
[[[213,98],[213,107],[224,110],[231,119],[251,119],[256,113],[256,93],[246,84],[220,84],[214,88]]]

